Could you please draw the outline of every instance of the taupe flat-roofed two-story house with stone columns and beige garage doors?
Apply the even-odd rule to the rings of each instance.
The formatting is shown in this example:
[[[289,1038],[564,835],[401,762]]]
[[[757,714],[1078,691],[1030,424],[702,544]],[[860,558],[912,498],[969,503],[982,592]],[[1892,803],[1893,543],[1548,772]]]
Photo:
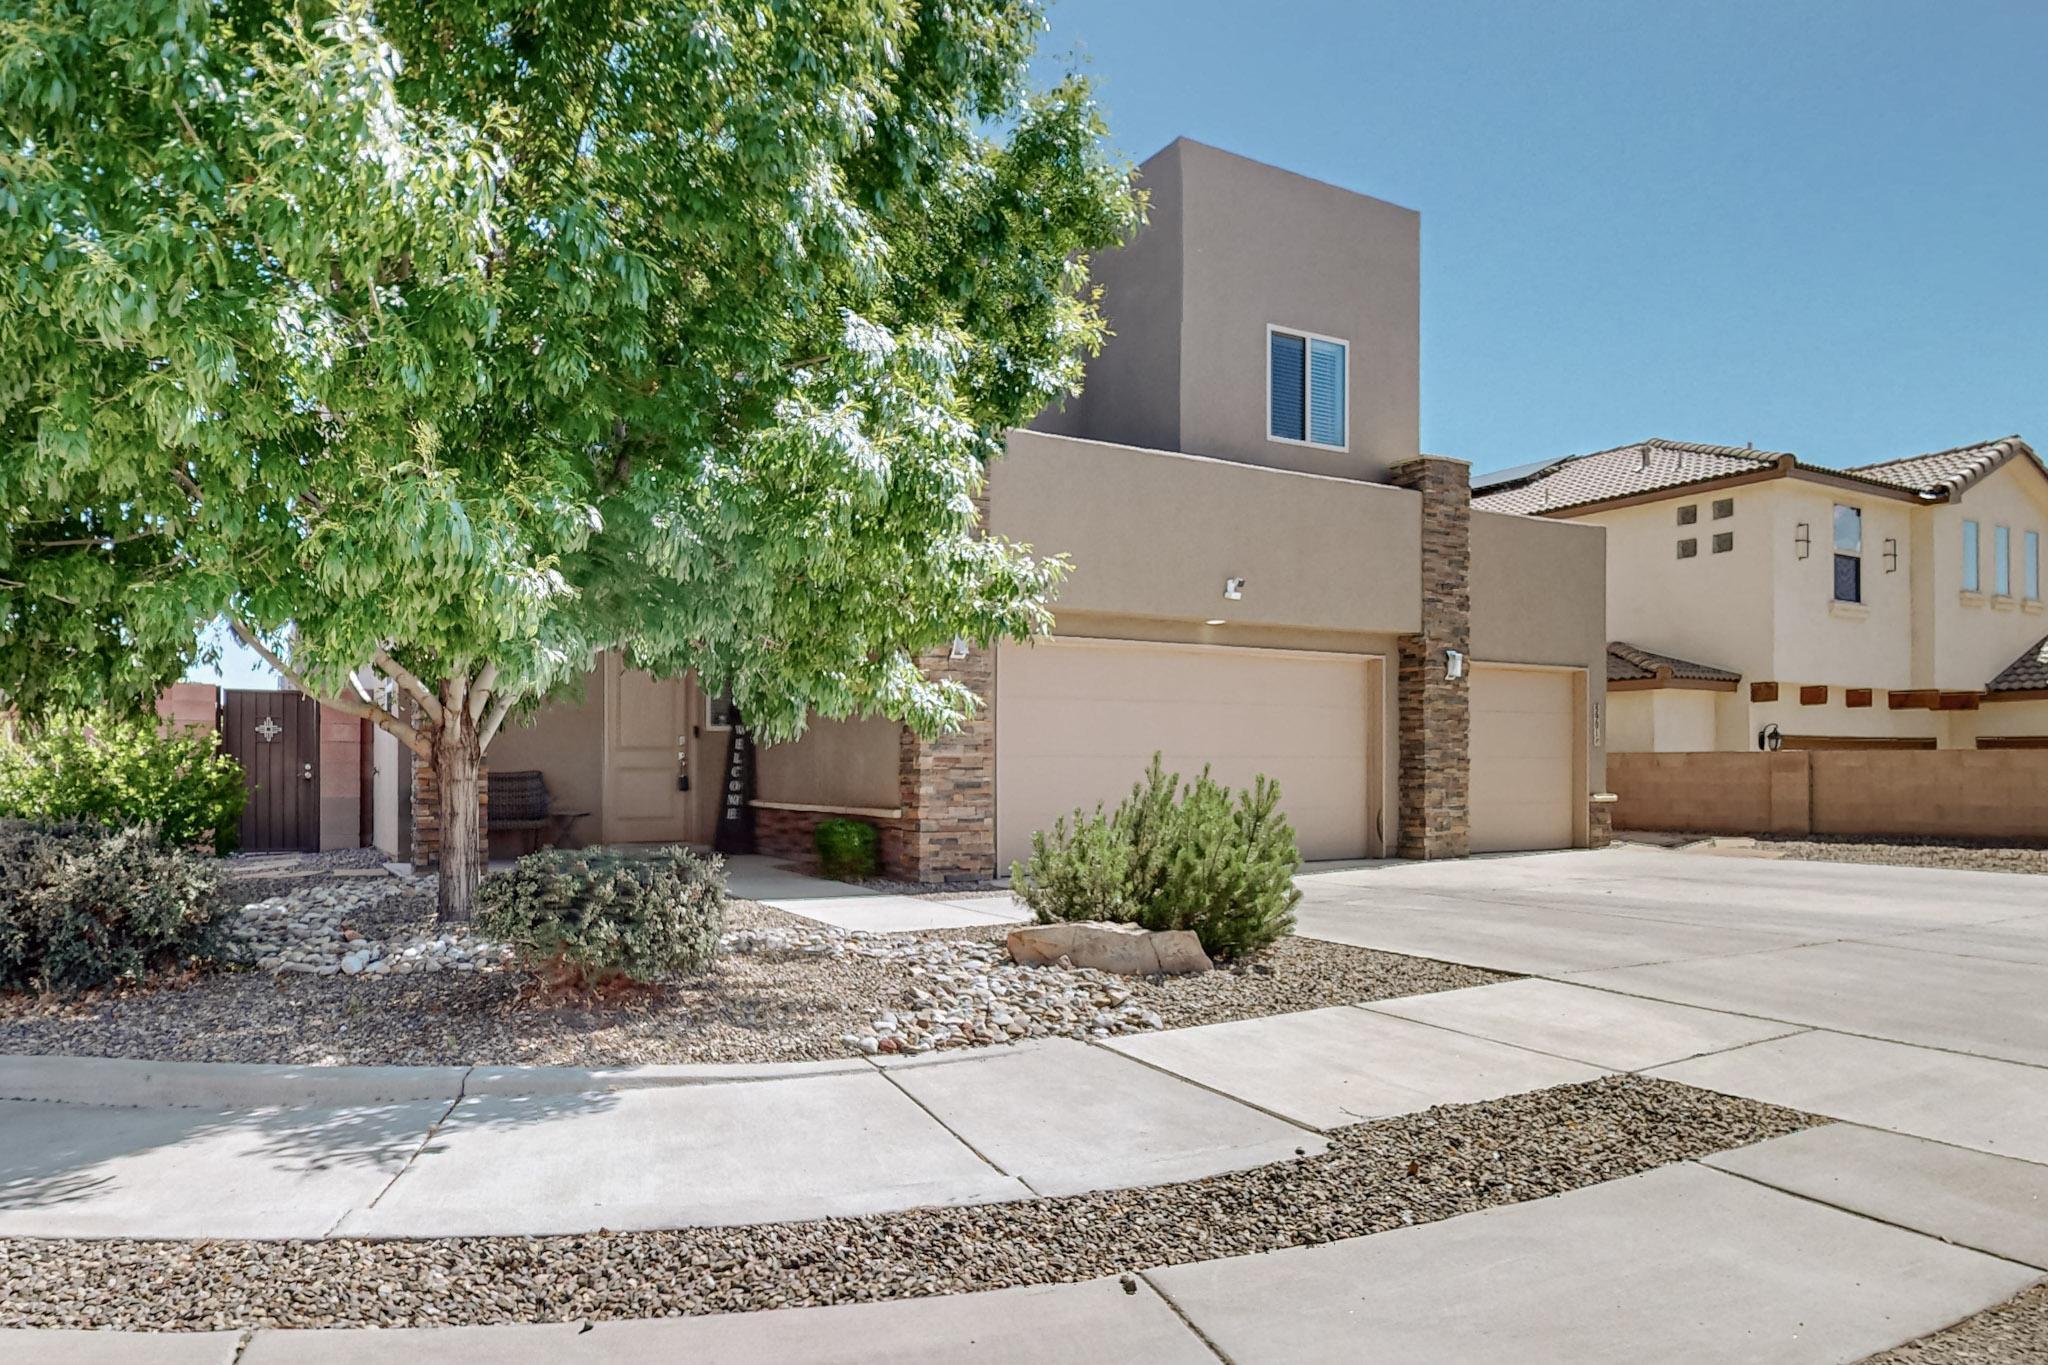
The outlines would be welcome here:
[[[989,876],[1153,751],[1276,778],[1311,860],[1604,841],[1604,536],[1475,514],[1419,452],[1417,215],[1192,141],[1141,176],[1149,227],[1096,262],[1114,336],[987,489],[991,530],[1073,557],[1055,639],[930,661],[987,700],[961,735],[760,751],[762,849],[850,814],[897,876]],[[543,769],[588,839],[709,841],[727,720],[608,659],[492,767]]]

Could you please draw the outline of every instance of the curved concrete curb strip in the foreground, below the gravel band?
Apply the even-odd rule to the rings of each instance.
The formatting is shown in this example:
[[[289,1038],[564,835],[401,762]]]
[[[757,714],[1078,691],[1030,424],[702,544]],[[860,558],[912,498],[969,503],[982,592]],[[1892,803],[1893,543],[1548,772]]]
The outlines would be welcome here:
[[[2038,1238],[1989,1252],[1944,1240],[1980,1232],[1970,1220],[2025,1189],[2036,1169],[1944,1166],[1942,1179],[1901,1187],[1890,1175],[1905,1152],[1882,1148],[1898,1140],[1845,1130],[1851,1138],[1837,1154],[1858,1179],[1817,1185],[1815,1162],[1827,1166],[1831,1154],[1810,1148],[1837,1132],[1729,1154],[1724,1162],[1743,1175],[1679,1162],[1552,1199],[1126,1281],[643,1322],[248,1336],[0,1332],[0,1357],[47,1365],[1821,1365],[1937,1330],[2042,1279],[2038,1259],[2009,1259],[2038,1254]]]

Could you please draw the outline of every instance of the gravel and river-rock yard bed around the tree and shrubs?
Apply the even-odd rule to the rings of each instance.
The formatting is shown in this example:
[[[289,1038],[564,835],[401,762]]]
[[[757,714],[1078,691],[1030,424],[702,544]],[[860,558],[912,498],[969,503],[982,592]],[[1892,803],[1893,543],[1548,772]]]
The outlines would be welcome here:
[[[729,952],[711,972],[594,1001],[543,999],[473,943],[446,941],[430,882],[256,876],[233,888],[254,925],[248,956],[268,960],[268,972],[76,999],[0,995],[0,1052],[299,1066],[778,1062],[1102,1038],[1503,980],[1300,937],[1237,970],[1139,980],[1016,966],[999,927],[864,935],[735,900]],[[279,911],[276,896],[311,909]],[[311,956],[276,950],[279,925],[295,917],[317,929]],[[373,960],[365,943],[389,952]]]

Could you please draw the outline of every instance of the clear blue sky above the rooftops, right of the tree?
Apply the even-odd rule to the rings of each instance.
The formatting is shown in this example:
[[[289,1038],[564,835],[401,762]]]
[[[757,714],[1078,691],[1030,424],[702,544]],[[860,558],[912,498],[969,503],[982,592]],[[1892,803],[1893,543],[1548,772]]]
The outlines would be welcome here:
[[[1055,0],[1047,76],[1421,213],[1423,450],[2048,446],[2040,0]]]

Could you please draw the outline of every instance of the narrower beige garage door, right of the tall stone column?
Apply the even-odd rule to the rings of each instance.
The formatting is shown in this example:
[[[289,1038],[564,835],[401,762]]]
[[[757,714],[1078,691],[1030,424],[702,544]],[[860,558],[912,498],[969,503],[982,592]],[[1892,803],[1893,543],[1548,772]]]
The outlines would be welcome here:
[[[1577,827],[1575,675],[1473,667],[1473,851],[1569,849]]]

